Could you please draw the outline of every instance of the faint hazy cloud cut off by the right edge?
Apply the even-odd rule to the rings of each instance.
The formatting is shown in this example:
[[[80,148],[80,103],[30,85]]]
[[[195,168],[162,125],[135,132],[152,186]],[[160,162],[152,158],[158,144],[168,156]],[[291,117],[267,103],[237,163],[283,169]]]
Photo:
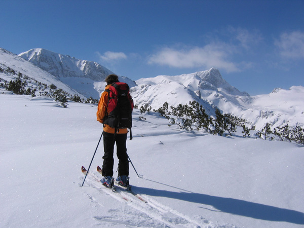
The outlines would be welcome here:
[[[275,45],[279,48],[279,52],[282,57],[291,59],[304,58],[303,32],[284,32],[280,35],[280,39],[275,41]]]

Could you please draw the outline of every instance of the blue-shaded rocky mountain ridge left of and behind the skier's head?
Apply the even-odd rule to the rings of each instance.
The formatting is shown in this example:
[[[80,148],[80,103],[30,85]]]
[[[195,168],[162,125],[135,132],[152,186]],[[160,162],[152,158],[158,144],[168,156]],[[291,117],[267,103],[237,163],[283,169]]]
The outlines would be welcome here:
[[[113,73],[97,62],[76,59],[42,48],[31,49],[19,56],[53,74],[84,96],[95,99],[99,99],[104,91],[105,77]],[[126,77],[120,77],[120,81],[135,86],[135,82]]]

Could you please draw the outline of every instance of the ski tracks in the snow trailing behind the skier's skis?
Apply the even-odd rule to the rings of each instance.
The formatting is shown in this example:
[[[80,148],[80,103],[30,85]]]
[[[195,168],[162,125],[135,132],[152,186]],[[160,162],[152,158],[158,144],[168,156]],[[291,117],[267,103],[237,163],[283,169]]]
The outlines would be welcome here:
[[[101,222],[111,223],[111,224],[120,224],[125,225],[126,227],[186,227],[186,228],[203,228],[203,227],[217,227],[212,224],[207,219],[201,218],[202,221],[198,221],[190,218],[166,205],[159,203],[158,201],[147,197],[146,195],[141,195],[140,193],[134,192],[146,200],[147,203],[139,200],[136,196],[128,193],[119,187],[117,188],[117,192],[112,192],[111,189],[104,187],[101,182],[99,182],[99,178],[95,173],[89,172],[86,178],[86,182],[89,183],[90,186],[97,189],[97,191],[102,192],[103,194],[109,195],[113,199],[127,204],[128,207],[132,207],[135,209],[136,213],[127,212],[129,210],[113,210],[110,209],[109,212],[112,216],[94,216],[94,218]],[[92,203],[98,204],[102,207],[101,203],[98,202],[96,198],[92,195],[87,194],[87,197],[91,200]],[[129,219],[118,219],[122,216],[122,214],[126,214],[131,216]],[[126,216],[126,215],[124,215]],[[140,218],[140,219],[139,219]],[[138,220],[138,222],[135,222]],[[211,225],[211,226],[210,226]],[[236,227],[236,226],[220,226],[220,227]]]

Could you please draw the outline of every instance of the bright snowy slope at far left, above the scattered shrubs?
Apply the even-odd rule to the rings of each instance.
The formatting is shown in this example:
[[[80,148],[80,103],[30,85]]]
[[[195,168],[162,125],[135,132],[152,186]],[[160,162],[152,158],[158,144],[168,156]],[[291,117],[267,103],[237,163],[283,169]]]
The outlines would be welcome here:
[[[38,82],[49,85],[55,85],[57,88],[63,89],[64,91],[70,94],[77,94],[80,95],[82,98],[85,98],[77,91],[72,89],[70,86],[66,85],[65,83],[61,82],[58,78],[54,75],[48,73],[47,71],[35,66],[34,64],[24,60],[23,58],[19,57],[18,55],[9,52],[3,48],[0,48],[0,67],[6,68],[10,67],[11,69],[15,70],[16,72],[20,72],[27,77],[35,79]],[[7,75],[2,73],[2,78],[7,81],[12,79],[6,78]]]

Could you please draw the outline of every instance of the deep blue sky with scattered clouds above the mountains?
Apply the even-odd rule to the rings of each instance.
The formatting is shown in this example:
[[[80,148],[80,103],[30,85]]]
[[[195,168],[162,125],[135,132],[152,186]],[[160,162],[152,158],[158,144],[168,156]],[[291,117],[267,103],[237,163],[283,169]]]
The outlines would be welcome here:
[[[44,48],[137,80],[219,69],[250,95],[304,86],[304,1],[0,0],[0,47]]]

